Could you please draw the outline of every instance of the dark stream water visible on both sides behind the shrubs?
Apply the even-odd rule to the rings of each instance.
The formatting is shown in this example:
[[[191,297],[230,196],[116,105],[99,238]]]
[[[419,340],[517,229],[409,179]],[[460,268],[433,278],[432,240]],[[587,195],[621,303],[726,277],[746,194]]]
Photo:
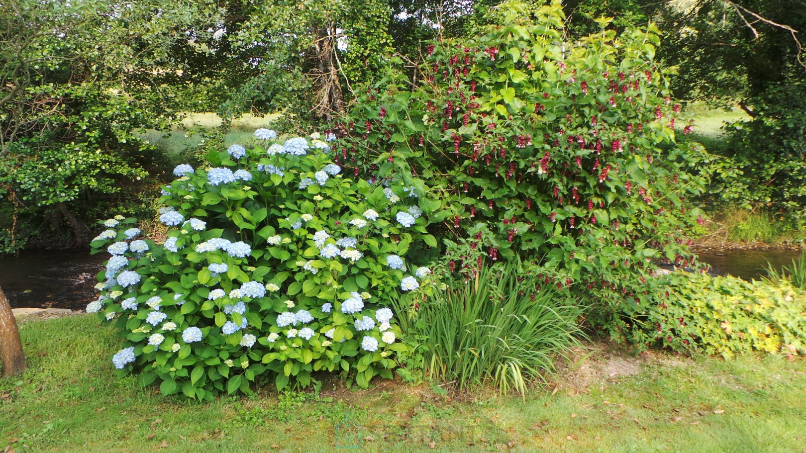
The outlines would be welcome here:
[[[697,255],[720,275],[746,280],[766,276],[767,262],[775,268],[800,256],[794,250],[700,251]],[[95,297],[95,276],[108,258],[89,250],[27,250],[19,256],[0,256],[0,287],[11,307],[84,310]]]

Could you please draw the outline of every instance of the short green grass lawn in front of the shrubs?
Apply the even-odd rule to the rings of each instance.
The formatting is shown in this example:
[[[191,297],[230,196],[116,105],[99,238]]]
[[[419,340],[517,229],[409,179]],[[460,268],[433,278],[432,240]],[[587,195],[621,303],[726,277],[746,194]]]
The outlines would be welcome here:
[[[600,349],[525,401],[376,381],[198,403],[114,378],[118,340],[94,316],[21,335],[29,368],[0,380],[0,451],[334,451],[339,425],[360,430],[359,451],[806,451],[802,359]]]

